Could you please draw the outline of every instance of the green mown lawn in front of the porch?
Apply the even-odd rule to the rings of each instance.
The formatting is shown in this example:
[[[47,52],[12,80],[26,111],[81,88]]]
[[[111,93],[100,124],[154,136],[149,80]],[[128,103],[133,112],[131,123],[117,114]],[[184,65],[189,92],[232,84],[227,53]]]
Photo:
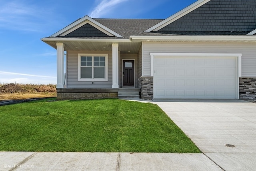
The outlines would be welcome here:
[[[0,106],[0,151],[200,153],[152,103],[49,100]]]

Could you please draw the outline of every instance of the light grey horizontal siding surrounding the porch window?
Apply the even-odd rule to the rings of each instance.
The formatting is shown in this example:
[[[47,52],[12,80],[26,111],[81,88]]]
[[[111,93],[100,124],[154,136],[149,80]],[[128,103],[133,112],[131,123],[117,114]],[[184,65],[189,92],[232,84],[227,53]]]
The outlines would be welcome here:
[[[108,81],[78,81],[78,54],[108,54]],[[112,88],[112,52],[68,51],[66,86],[67,88]]]

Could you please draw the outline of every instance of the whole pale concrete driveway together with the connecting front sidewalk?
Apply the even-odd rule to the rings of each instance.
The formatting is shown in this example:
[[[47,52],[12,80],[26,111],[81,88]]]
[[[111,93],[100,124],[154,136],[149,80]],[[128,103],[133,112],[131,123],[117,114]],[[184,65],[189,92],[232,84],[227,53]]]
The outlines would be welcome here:
[[[147,102],[147,101],[142,101]],[[203,153],[0,152],[2,170],[255,170],[256,103],[154,100]],[[234,145],[234,147],[228,147]]]

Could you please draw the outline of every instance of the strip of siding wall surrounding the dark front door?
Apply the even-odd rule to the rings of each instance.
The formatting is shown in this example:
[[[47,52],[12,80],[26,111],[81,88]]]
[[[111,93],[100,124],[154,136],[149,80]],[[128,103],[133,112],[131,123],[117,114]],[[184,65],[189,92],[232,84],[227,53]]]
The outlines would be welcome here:
[[[138,88],[138,70],[137,70],[137,65],[138,65],[138,54],[120,54],[119,58],[119,87],[122,88],[122,79],[123,79],[123,74],[122,74],[122,60],[135,60],[134,61],[134,69],[135,69],[135,88]]]

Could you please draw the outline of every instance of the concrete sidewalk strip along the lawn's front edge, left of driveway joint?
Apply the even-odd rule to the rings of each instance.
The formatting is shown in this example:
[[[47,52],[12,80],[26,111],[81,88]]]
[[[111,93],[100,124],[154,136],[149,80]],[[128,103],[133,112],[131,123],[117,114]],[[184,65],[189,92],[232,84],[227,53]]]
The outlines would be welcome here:
[[[218,171],[202,153],[0,152],[0,170],[26,171]]]

